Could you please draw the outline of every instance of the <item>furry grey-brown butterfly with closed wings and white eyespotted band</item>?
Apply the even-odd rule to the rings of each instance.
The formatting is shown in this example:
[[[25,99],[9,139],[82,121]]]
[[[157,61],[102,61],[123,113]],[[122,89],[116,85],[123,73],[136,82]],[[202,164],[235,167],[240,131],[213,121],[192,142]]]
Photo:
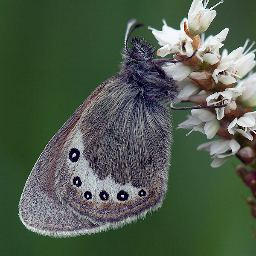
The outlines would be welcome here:
[[[164,103],[168,93],[175,99],[178,88],[152,65],[151,44],[140,38],[131,44],[133,49],[123,51],[120,73],[90,94],[32,169],[19,205],[30,230],[57,237],[96,233],[135,221],[162,204],[171,143]],[[137,52],[143,61],[132,58]],[[76,163],[68,157],[72,148],[82,154]],[[82,185],[72,183],[74,178]],[[91,183],[91,200],[86,200]],[[145,196],[137,195],[140,189]],[[101,190],[108,200],[99,199]],[[119,190],[127,190],[126,201],[116,199]]]

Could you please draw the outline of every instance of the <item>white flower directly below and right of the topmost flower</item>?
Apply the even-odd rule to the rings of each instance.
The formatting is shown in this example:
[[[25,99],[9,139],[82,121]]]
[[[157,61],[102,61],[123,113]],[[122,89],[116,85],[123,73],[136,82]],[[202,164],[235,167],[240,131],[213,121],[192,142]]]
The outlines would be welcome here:
[[[201,47],[196,52],[197,57],[202,62],[207,62],[210,65],[217,63],[220,59],[219,49],[224,45],[221,44],[227,37],[228,28],[223,29],[218,35],[215,36],[208,36],[204,40],[204,34],[201,37]]]

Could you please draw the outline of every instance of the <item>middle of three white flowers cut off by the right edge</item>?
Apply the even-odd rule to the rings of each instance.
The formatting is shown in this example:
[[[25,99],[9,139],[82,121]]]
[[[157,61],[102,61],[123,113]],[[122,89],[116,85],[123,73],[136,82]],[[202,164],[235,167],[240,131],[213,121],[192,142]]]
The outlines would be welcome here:
[[[238,97],[240,105],[246,107],[256,106],[256,73],[248,76],[246,79],[240,80],[236,89],[245,86],[246,89],[241,96]]]

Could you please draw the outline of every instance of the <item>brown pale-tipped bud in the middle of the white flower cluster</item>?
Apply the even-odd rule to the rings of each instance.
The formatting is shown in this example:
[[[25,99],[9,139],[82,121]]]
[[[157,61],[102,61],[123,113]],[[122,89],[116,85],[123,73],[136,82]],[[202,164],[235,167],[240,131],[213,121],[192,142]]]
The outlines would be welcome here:
[[[198,70],[197,72],[192,72],[189,78],[205,91],[210,90],[214,84],[211,73],[206,70]]]

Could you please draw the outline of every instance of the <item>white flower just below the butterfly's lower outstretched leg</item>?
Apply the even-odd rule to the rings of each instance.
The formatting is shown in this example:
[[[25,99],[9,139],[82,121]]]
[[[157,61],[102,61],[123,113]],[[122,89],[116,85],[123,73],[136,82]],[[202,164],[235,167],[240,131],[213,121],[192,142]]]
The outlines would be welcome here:
[[[192,129],[186,135],[192,131],[201,131],[206,134],[207,139],[212,139],[220,127],[220,122],[216,119],[215,114],[203,108],[192,109],[191,114],[192,116],[188,116],[188,119],[180,123],[177,129]]]

